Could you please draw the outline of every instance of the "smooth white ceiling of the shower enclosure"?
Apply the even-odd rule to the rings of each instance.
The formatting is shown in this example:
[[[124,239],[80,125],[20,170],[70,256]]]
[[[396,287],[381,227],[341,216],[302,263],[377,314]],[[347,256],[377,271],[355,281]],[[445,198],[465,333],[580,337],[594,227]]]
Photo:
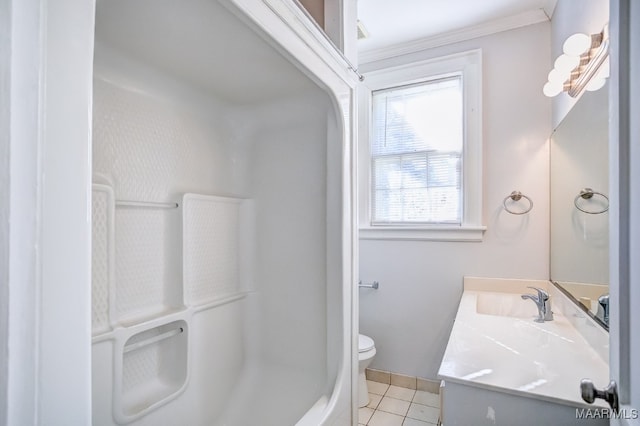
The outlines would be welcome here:
[[[219,100],[259,104],[317,86],[222,2],[98,0],[96,44]],[[100,58],[101,49],[96,49]]]

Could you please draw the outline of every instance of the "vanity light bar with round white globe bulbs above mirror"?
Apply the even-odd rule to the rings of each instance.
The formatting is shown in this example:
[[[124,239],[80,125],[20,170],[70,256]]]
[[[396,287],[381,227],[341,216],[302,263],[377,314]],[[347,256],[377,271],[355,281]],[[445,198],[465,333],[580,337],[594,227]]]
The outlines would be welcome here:
[[[598,34],[574,34],[562,45],[542,92],[554,97],[562,92],[573,98],[583,90],[600,89],[609,77],[609,27]]]

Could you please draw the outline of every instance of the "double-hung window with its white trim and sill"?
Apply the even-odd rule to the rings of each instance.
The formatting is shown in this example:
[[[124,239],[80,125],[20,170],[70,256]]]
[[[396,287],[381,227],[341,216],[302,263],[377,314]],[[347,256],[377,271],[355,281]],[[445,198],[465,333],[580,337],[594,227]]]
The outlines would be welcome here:
[[[480,81],[480,51],[366,74],[361,238],[481,240]]]

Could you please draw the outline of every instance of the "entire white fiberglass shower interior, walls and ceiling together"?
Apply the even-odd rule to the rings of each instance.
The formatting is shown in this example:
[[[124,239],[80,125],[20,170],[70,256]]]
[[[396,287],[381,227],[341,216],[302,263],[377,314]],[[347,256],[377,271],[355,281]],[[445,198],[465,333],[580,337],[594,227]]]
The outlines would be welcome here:
[[[101,0],[93,102],[93,424],[295,424],[345,351],[330,97],[217,1]]]

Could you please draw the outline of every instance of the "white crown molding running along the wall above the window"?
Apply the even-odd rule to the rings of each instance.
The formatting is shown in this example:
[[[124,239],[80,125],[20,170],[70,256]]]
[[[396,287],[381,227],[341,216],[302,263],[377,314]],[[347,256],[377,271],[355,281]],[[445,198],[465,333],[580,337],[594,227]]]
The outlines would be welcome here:
[[[544,9],[530,10],[484,24],[438,34],[433,37],[411,40],[405,43],[360,52],[358,55],[358,63],[362,65],[548,21],[549,17]]]

